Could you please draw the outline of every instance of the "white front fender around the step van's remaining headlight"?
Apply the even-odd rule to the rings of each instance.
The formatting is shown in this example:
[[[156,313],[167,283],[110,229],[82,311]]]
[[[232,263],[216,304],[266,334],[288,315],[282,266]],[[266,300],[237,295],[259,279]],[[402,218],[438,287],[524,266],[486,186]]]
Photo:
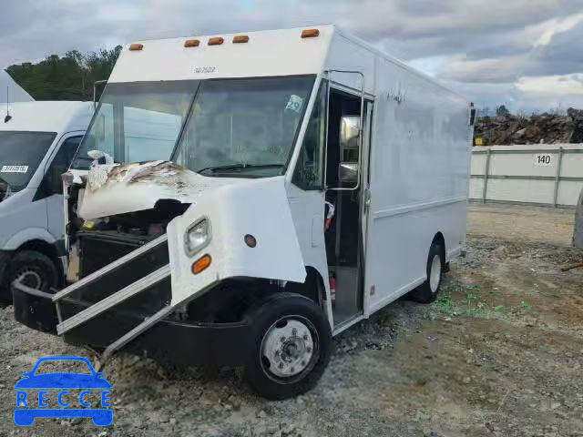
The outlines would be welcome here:
[[[203,217],[210,220],[210,243],[189,256],[186,231]],[[305,280],[283,177],[241,180],[203,192],[182,216],[169,223],[167,230],[173,305],[222,279]],[[256,247],[247,246],[246,235],[256,239]],[[207,254],[212,259],[210,267],[197,275],[192,273],[192,264]]]

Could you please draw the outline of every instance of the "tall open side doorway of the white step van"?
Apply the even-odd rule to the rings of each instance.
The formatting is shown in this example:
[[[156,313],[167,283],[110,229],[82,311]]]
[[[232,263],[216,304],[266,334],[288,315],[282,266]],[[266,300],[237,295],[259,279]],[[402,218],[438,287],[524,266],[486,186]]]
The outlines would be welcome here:
[[[326,201],[332,204],[334,216],[324,239],[336,328],[363,314],[361,107],[361,97],[330,90]]]

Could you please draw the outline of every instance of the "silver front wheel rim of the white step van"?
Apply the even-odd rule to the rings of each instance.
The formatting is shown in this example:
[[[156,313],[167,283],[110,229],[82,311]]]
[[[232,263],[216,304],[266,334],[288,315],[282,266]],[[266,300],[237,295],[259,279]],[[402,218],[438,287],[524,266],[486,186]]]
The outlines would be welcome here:
[[[279,379],[292,379],[313,368],[317,337],[309,320],[286,317],[277,320],[261,341],[263,370]]]

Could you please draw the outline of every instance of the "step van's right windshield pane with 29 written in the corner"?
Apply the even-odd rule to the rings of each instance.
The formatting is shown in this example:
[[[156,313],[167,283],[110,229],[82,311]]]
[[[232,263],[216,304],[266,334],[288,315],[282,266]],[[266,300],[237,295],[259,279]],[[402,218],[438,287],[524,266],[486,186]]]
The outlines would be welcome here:
[[[281,175],[313,76],[200,83],[173,160],[205,176]]]

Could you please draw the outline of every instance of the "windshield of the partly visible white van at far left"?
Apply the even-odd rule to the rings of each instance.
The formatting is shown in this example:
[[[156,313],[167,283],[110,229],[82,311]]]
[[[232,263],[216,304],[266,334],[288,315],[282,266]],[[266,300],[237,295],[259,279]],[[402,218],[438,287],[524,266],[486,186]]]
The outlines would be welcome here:
[[[55,132],[0,132],[0,200],[26,188]]]

